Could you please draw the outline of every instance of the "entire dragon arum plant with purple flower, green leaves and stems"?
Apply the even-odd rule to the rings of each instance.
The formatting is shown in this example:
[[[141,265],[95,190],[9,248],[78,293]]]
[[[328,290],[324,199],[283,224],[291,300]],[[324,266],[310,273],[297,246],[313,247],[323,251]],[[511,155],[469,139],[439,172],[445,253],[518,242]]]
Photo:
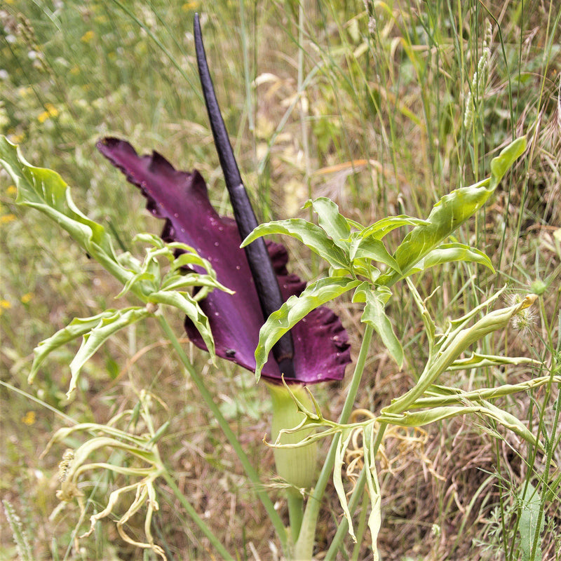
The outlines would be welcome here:
[[[259,225],[243,186],[212,88],[198,18],[195,20],[194,36],[212,134],[235,220],[215,212],[210,205],[205,182],[198,172],[175,170],[156,152],[151,156],[139,156],[128,142],[105,138],[97,144],[102,154],[140,188],[151,213],[165,220],[161,238],[151,234],[136,237],[137,241],[147,245],[143,260],[128,252],[118,255],[104,227],[76,208],[62,178],[51,170],[30,165],[13,144],[0,137],[0,162],[18,188],[16,203],[36,208],[55,220],[89,257],[100,262],[122,283],[120,295],[130,293],[140,300],[140,305],[108,309],[90,318],[76,318],[43,341],[35,349],[29,381],[36,377],[49,353],[81,338],[79,351],[70,363],[71,394],[76,388],[81,368],[109,337],[139,320],[156,318],[236,452],[276,531],[285,558],[311,559],[318,513],[327,482],[332,478],[344,518],[325,560],[336,557],[347,533],[358,539],[352,517],[365,486],[371,507],[368,527],[372,536],[372,552],[377,559],[381,496],[376,457],[388,427],[418,427],[472,413],[492,419],[535,447],[541,447],[539,440],[521,421],[492,402],[499,396],[516,391],[559,383],[560,377],[552,374],[521,384],[480,388],[471,392],[438,384],[438,377],[447,370],[529,362],[523,357],[482,355],[471,349],[483,337],[506,327],[515,314],[525,313],[536,296],[527,295],[511,306],[492,310],[499,297],[496,293],[462,318],[450,320],[445,330],[440,332],[428,313],[426,300],[421,299],[410,280],[414,273],[442,263],[473,262],[492,269],[492,263],[485,254],[476,248],[450,241],[450,236],[485,205],[508,168],[525,151],[526,140],[515,140],[492,160],[490,177],[443,196],[426,219],[400,215],[385,217],[365,227],[339,214],[337,205],[329,199],[317,198],[306,203],[306,207],[311,207],[316,213],[317,224],[303,219],[285,219]],[[384,238],[400,228],[410,231],[398,247],[390,251]],[[268,234],[297,238],[327,261],[330,266],[328,275],[306,286],[297,276],[288,273],[285,248],[263,240],[262,236]],[[166,259],[170,266],[168,271],[163,271],[161,262]],[[396,365],[400,367],[403,364],[403,346],[385,311],[386,303],[392,296],[392,287],[400,281],[407,286],[424,323],[428,342],[426,366],[421,377],[403,396],[398,396],[377,415],[372,413],[367,421],[350,423],[374,333],[386,346]],[[364,305],[361,321],[365,329],[344,407],[338,421],[331,421],[324,417],[313,399],[310,386],[321,381],[342,380],[346,365],[351,362],[348,337],[339,318],[323,307],[332,299],[351,291],[353,302]],[[231,360],[255,372],[257,379],[262,377],[266,382],[273,408],[271,435],[276,469],[287,487],[289,527],[285,527],[259,474],[206,388],[205,380],[190,363],[166,322],[161,311],[164,306],[184,313],[189,339],[208,351],[213,361],[216,356]],[[154,543],[151,535],[151,519],[158,510],[154,483],[163,478],[184,512],[217,553],[224,559],[234,559],[180,492],[161,460],[158,438],[167,426],[153,426],[149,410],[149,396],[141,393],[137,408],[122,412],[107,424],[79,424],[63,428],[54,435],[50,445],[65,442],[69,435],[74,437],[75,449],[65,453],[61,464],[60,500],[76,499],[84,514],[86,506],[79,487],[84,473],[107,470],[128,476],[133,482],[111,493],[107,506],[90,518],[89,532],[99,520],[117,508],[118,499],[128,492],[135,492],[130,508],[117,521],[119,534],[125,541],[150,548],[165,558],[164,550]],[[141,436],[128,430],[139,414],[147,427]],[[118,428],[120,424],[125,426],[123,430]],[[87,434],[88,440],[76,447],[76,435],[79,433]],[[356,434],[360,434],[363,442],[362,468],[349,499],[342,480],[342,467],[349,442]],[[332,438],[332,443],[318,475],[318,440],[327,437]],[[134,461],[126,466],[109,460],[90,461],[94,452],[105,449],[121,450]],[[549,468],[549,463],[547,466]],[[304,496],[308,496],[305,504]],[[133,539],[124,529],[126,522],[141,508],[146,511],[144,541]],[[538,546],[536,541],[533,547]]]

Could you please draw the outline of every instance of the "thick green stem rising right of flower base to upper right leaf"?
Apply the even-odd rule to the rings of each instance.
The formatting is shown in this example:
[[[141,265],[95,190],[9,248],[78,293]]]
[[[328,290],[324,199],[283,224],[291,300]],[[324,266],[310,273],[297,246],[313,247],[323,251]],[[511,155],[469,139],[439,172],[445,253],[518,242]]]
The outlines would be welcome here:
[[[343,405],[343,410],[341,416],[339,417],[339,423],[344,424],[349,421],[349,417],[353,410],[356,394],[358,393],[358,388],[360,386],[360,381],[363,378],[364,367],[366,363],[366,358],[368,356],[368,349],[370,349],[370,342],[372,341],[372,334],[374,333],[374,328],[372,325],[366,325],[363,336],[363,343],[360,345],[360,352],[358,353],[358,360],[356,361],[355,371],[353,372],[353,379],[351,379],[351,385],[349,386],[349,393],[347,393],[345,403]],[[311,492],[308,503],[306,504],[306,510],[304,511],[304,519],[302,521],[302,529],[300,530],[300,535],[298,536],[297,542],[295,543],[294,559],[305,560],[311,559],[313,554],[313,541],[316,537],[316,525],[318,523],[318,514],[320,511],[321,501],[323,499],[323,494],[325,493],[325,487],[327,487],[327,482],[333,471],[333,466],[335,463],[335,454],[337,452],[337,446],[339,445],[339,438],[341,435],[336,435],[331,443],[329,452],[327,452],[327,458],[323,464],[318,482],[316,487]]]

